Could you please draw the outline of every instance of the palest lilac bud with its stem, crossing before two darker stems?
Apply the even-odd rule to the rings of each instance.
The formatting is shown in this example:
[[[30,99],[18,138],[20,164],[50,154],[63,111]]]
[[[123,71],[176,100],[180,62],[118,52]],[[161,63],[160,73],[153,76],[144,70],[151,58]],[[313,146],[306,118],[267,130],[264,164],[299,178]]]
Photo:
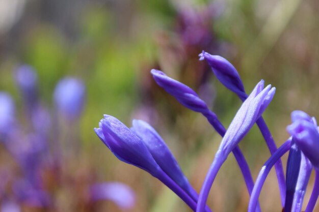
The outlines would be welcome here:
[[[256,120],[273,99],[274,94],[275,87],[271,88],[271,85],[268,85],[263,89],[263,80],[261,80],[236,113],[206,175],[198,199],[197,212],[203,211],[209,190],[220,167],[227,159],[230,152],[252,128]]]

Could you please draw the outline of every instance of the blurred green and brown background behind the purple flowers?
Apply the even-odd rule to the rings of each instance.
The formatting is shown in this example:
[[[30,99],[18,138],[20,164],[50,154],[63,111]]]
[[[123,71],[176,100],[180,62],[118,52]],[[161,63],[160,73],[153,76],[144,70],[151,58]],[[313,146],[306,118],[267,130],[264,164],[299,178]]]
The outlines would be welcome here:
[[[318,14],[316,0],[0,0],[0,90],[12,96],[24,132],[31,131],[15,75],[21,65],[35,70],[39,102],[58,119],[48,130],[48,142],[58,139],[61,144],[63,173],[56,180],[52,172],[60,172],[54,168],[41,172],[51,188],[53,209],[19,202],[12,197],[12,182],[0,186],[2,201],[13,198],[20,211],[190,211],[157,179],[114,157],[93,128],[103,114],[127,126],[133,118],[146,120],[199,191],[221,138],[201,114],[183,108],[158,87],[150,70],[162,70],[192,87],[226,127],[241,102],[214,78],[198,54],[205,50],[227,58],[248,93],[264,79],[277,88],[263,117],[280,145],[288,138],[285,128],[291,111],[300,109],[319,118]],[[64,77],[80,79],[86,86],[85,103],[75,120],[56,114],[54,90]],[[256,127],[240,146],[255,178],[269,158]],[[6,170],[9,179],[21,176],[4,142],[0,152],[0,172]],[[128,185],[136,193],[135,205],[123,209],[110,201],[94,207],[81,204],[86,193],[79,187],[95,181]],[[311,179],[305,202],[312,184]],[[239,212],[247,210],[248,201],[244,180],[230,156],[208,205],[213,211]],[[263,211],[281,211],[274,171],[260,204]]]

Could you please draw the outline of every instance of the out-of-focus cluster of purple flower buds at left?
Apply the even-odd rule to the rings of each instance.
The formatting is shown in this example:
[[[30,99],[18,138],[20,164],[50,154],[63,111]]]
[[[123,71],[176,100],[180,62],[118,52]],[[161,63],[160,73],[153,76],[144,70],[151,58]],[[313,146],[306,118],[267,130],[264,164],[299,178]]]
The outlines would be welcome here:
[[[101,200],[111,200],[124,209],[132,207],[135,195],[128,186],[117,182],[98,183],[91,172],[79,181],[76,173],[65,168],[71,161],[62,152],[65,144],[60,138],[64,126],[59,125],[57,117],[71,125],[78,122],[85,105],[84,82],[71,77],[58,82],[54,92],[56,107],[50,112],[40,101],[37,74],[33,68],[20,66],[15,79],[22,94],[28,125],[24,127],[17,119],[13,98],[0,92],[0,142],[20,172],[16,174],[13,167],[0,166],[1,211],[65,211],[63,206],[57,205],[60,204],[57,198],[66,188],[84,188],[82,193],[69,198],[75,206],[67,210],[96,211]],[[70,138],[72,140],[72,135]],[[78,183],[70,185],[66,178]]]

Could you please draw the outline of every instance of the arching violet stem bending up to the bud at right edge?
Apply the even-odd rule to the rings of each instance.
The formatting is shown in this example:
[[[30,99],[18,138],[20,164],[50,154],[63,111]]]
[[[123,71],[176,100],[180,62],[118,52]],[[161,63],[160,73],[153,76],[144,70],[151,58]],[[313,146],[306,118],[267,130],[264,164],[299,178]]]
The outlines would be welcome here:
[[[253,192],[251,194],[251,198],[249,201],[248,212],[255,212],[256,205],[258,202],[258,197],[260,195],[263,183],[267,178],[271,168],[274,164],[289,150],[291,144],[291,139],[288,139],[284,142],[277,151],[265,162],[263,167],[261,168],[258,177],[256,179],[256,184],[254,186]]]

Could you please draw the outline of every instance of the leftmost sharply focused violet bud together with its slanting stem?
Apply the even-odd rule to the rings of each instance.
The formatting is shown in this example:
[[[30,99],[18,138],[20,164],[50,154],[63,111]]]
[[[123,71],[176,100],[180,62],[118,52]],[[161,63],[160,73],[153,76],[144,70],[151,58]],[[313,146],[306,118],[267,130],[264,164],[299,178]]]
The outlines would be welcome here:
[[[118,159],[149,172],[161,180],[193,210],[196,209],[196,201],[159,167],[141,138],[118,119],[104,115],[99,123],[99,128],[95,128],[94,131]],[[206,207],[206,211],[210,211],[208,207]]]

